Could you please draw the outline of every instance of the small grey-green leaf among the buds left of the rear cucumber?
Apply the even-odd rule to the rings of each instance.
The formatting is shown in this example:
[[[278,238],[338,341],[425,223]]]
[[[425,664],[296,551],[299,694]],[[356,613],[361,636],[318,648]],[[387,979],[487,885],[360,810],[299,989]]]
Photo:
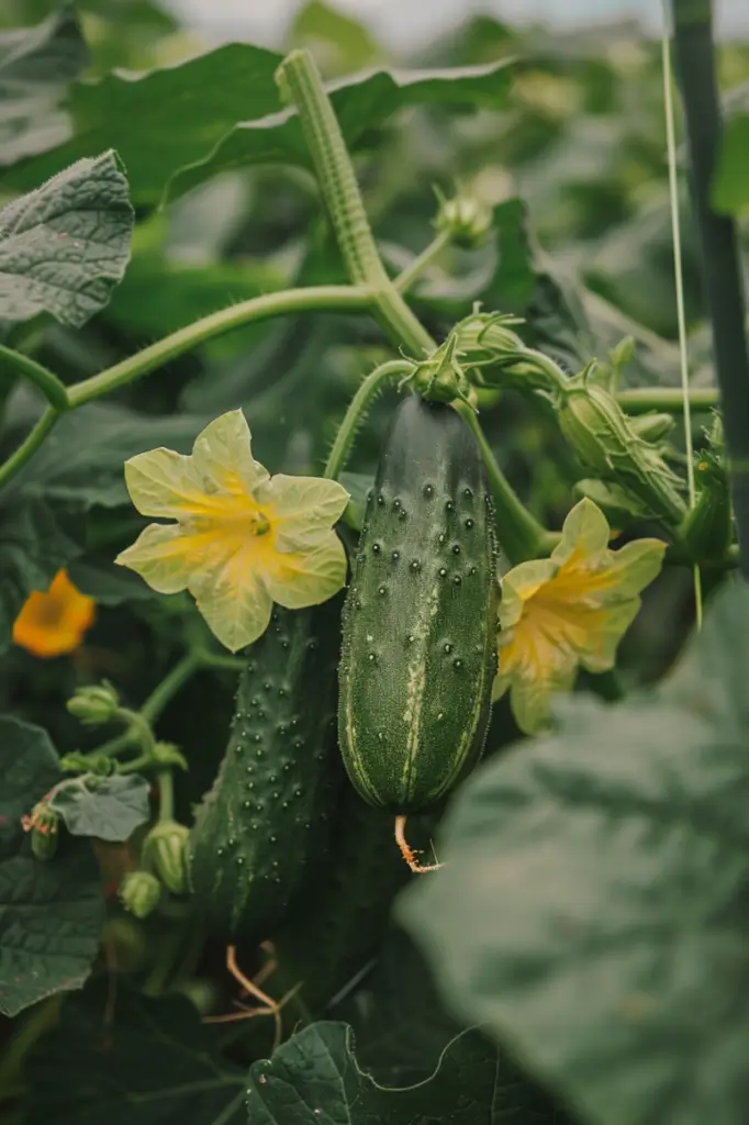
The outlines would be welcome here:
[[[139,774],[69,777],[56,786],[49,807],[71,836],[124,844],[151,816],[150,784]]]

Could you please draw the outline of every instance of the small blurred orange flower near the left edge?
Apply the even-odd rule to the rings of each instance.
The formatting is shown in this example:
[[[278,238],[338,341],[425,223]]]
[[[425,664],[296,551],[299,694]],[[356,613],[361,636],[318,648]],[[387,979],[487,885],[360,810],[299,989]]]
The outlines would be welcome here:
[[[72,652],[93,624],[96,606],[58,570],[46,593],[35,590],[16,618],[13,644],[34,656]]]

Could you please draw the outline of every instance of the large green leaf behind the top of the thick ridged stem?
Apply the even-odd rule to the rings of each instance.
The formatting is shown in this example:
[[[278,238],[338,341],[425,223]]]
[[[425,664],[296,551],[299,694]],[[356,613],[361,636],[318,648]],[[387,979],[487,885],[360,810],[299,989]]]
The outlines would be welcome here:
[[[91,151],[116,148],[127,168],[133,199],[157,202],[219,172],[256,163],[308,163],[296,114],[281,108],[274,72],[281,56],[249,44],[229,44],[178,66],[137,76],[108,74],[72,87],[74,135],[10,171],[6,180],[28,188]],[[455,70],[379,70],[332,84],[333,102],[349,142],[355,142],[401,106],[419,101],[502,106],[506,62]],[[238,124],[237,124],[238,123]]]

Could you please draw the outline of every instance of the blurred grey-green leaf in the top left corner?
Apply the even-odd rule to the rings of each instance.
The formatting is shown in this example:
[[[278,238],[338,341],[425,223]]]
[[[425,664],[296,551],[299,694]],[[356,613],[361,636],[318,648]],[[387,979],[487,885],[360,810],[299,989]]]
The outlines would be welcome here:
[[[75,14],[67,4],[36,27],[0,34],[0,166],[64,141],[60,102],[89,61]]]

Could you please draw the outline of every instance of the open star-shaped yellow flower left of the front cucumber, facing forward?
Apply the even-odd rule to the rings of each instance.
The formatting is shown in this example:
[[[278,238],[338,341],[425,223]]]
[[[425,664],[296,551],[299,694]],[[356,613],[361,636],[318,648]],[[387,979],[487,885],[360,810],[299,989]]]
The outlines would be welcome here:
[[[150,524],[115,561],[160,594],[189,590],[232,652],[268,628],[273,602],[317,605],[345,582],[333,524],[349,493],[335,480],[269,472],[254,460],[241,410],[198,434],[188,457],[152,449],[125,462],[130,500]]]

